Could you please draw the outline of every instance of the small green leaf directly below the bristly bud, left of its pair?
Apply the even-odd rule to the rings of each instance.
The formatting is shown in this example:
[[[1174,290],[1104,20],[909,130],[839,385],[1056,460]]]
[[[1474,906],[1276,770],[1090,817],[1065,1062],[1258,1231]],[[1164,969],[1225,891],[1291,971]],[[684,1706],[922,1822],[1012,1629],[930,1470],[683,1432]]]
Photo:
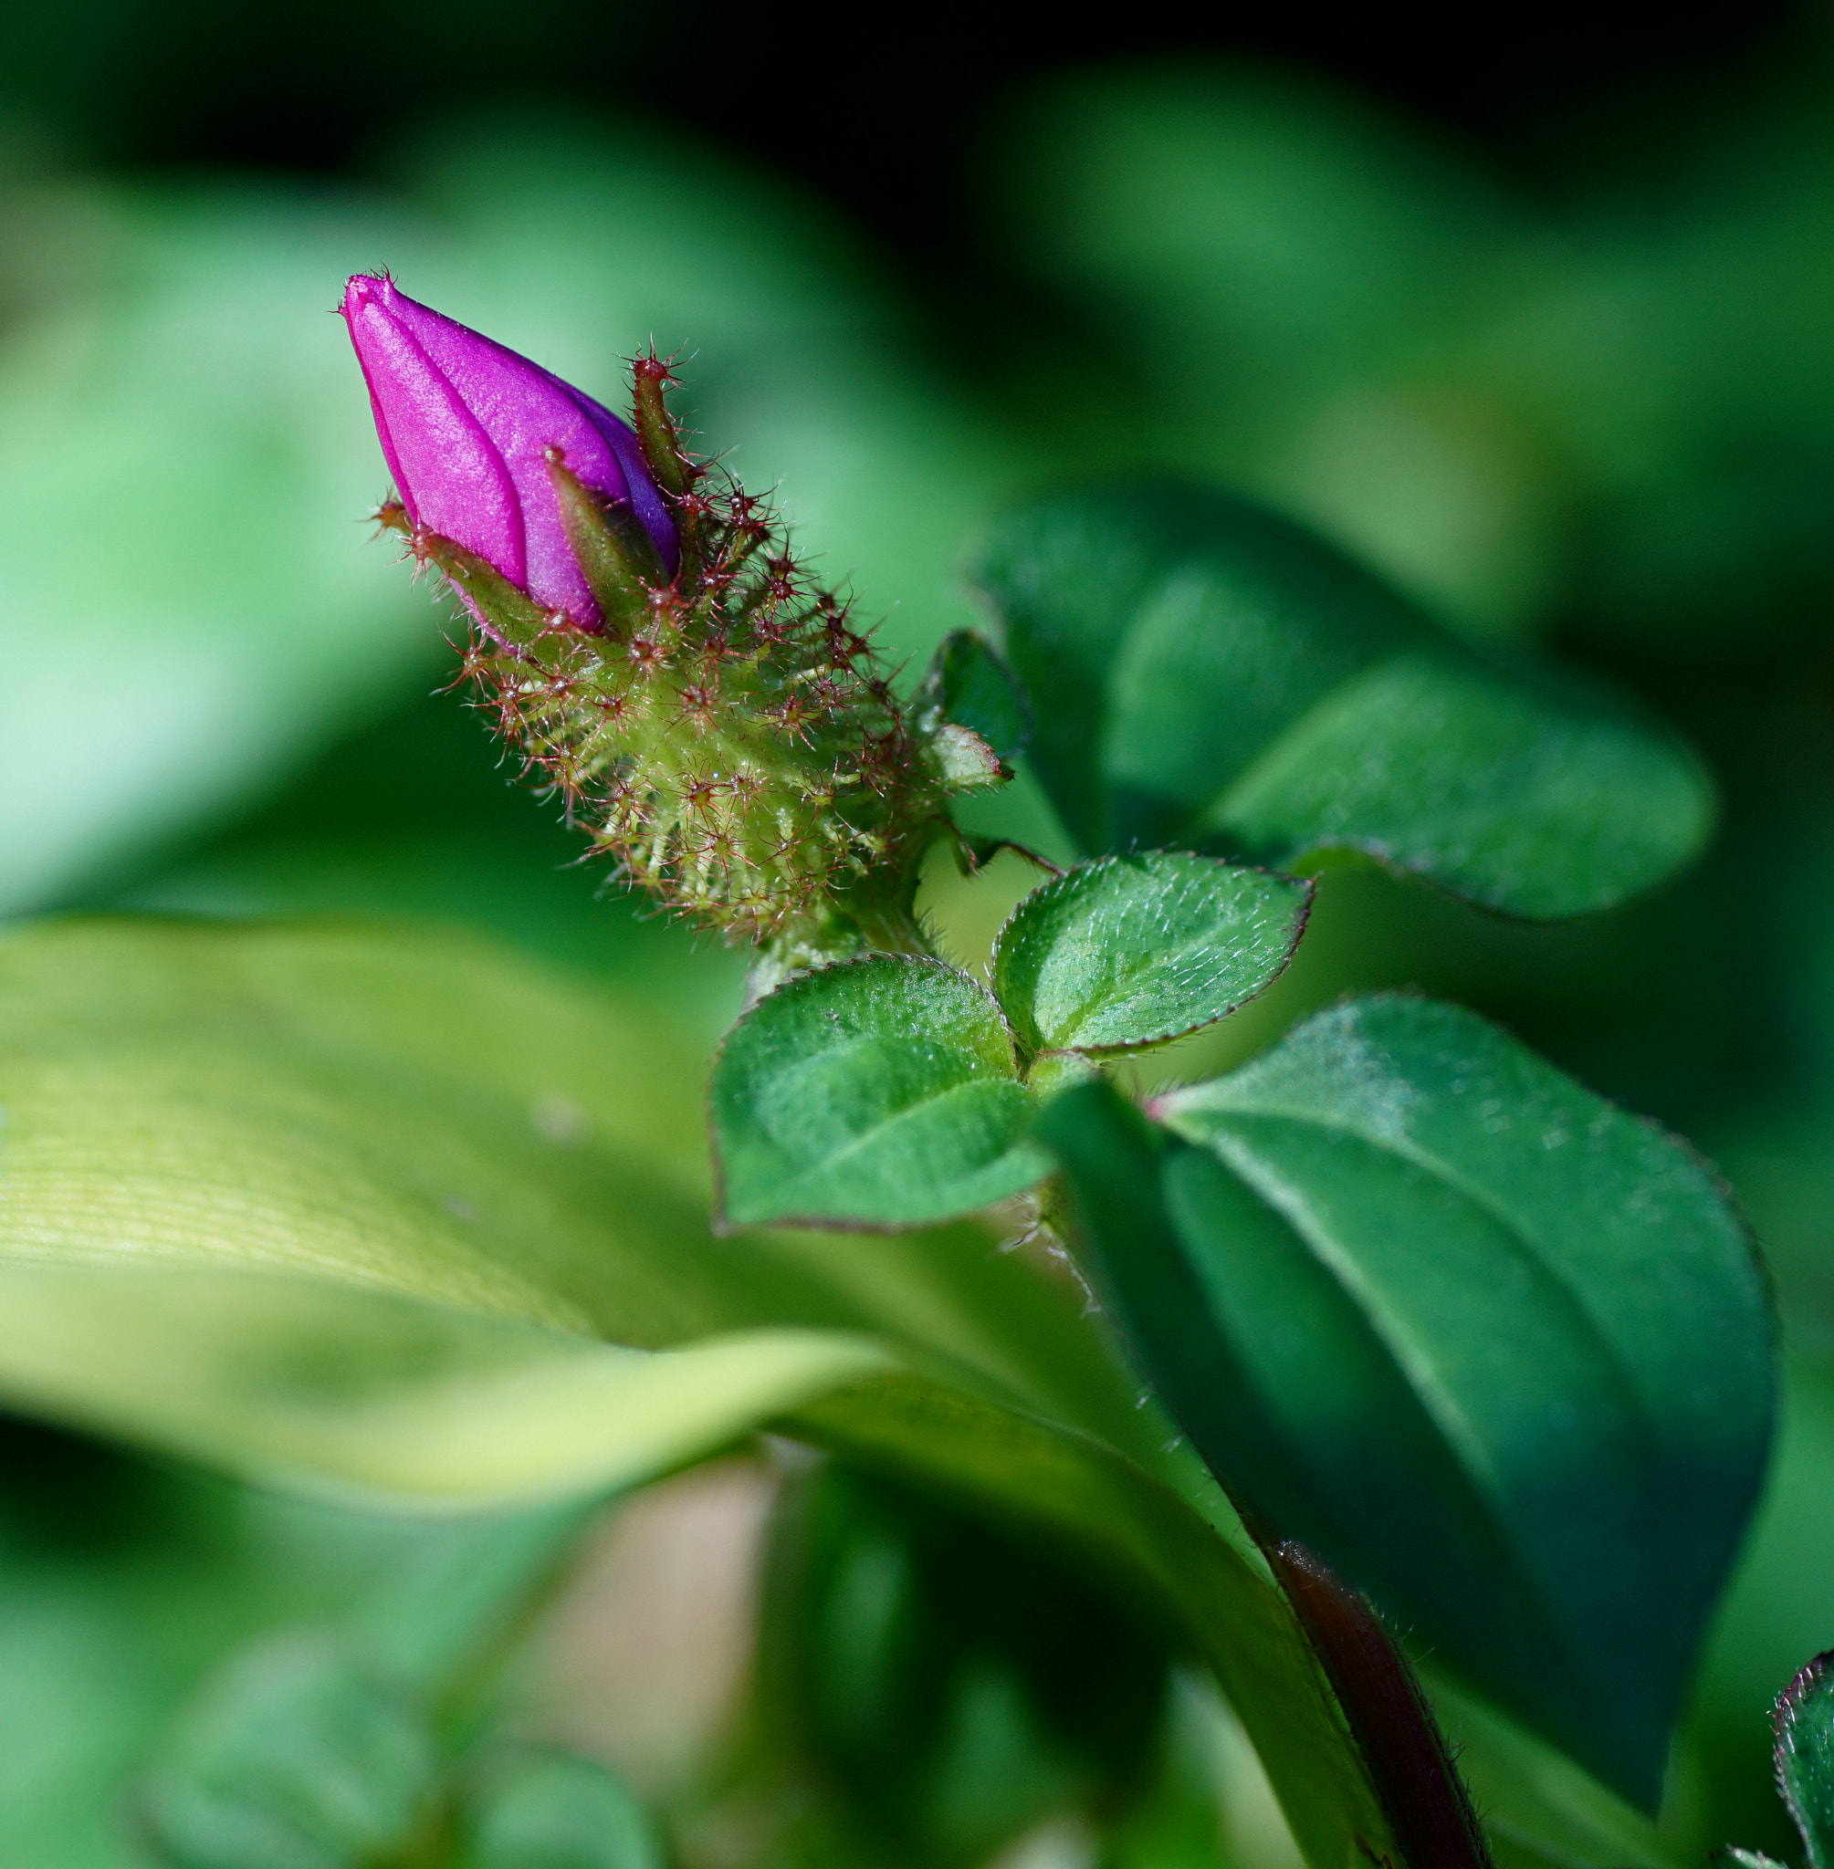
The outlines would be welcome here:
[[[998,1006],[937,961],[869,955],[778,987],[725,1039],[710,1101],[735,1226],[914,1226],[1045,1166]]]

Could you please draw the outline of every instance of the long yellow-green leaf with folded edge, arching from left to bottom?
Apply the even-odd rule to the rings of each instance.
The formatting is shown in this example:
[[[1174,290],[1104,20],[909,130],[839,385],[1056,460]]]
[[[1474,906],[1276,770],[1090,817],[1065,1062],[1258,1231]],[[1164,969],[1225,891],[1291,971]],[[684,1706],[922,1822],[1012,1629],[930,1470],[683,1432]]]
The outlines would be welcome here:
[[[1292,1615],[1082,1288],[981,1224],[714,1235],[703,1082],[652,994],[445,931],[15,929],[0,1391],[419,1510],[634,1486],[768,1424],[1187,1632],[1307,1860],[1389,1848]],[[1585,1824],[1561,1852],[1626,1860]]]

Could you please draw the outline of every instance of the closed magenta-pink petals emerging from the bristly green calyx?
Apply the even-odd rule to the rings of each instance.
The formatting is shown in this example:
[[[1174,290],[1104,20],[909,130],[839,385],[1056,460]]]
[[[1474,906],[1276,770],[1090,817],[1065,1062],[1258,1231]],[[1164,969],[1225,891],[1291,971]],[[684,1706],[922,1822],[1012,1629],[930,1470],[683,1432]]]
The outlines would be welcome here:
[[[636,434],[609,409],[387,277],[357,273],[342,314],[381,452],[417,529],[464,546],[546,609],[596,626],[548,467],[559,449],[583,486],[636,512],[673,574],[675,521]]]

